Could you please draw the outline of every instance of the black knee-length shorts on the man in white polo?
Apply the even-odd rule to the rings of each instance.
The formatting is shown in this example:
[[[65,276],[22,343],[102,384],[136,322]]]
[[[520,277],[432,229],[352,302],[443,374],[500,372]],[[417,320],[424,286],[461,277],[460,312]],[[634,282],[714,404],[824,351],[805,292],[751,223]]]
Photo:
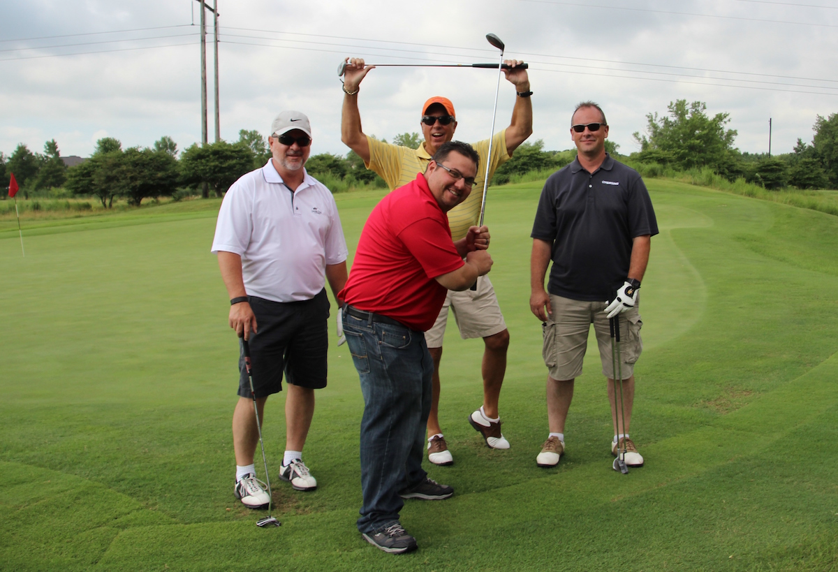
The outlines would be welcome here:
[[[250,296],[256,315],[256,334],[251,332],[251,375],[254,393],[264,398],[282,391],[282,372],[287,382],[299,387],[326,387],[328,351],[328,298],[326,289],[313,299],[272,302]],[[239,395],[251,397],[244,347],[239,344]]]

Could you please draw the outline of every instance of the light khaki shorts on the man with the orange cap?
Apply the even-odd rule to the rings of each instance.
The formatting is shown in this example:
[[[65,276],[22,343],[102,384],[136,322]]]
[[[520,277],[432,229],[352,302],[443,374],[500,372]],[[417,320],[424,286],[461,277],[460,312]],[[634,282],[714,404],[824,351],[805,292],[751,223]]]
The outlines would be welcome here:
[[[454,292],[448,290],[445,304],[439,311],[437,321],[430,330],[425,332],[428,347],[442,347],[445,336],[445,325],[448,321],[448,308],[454,313],[460,337],[484,338],[506,330],[504,315],[500,313],[498,297],[494,294],[492,282],[488,276],[481,276],[477,280],[477,291],[463,290]]]

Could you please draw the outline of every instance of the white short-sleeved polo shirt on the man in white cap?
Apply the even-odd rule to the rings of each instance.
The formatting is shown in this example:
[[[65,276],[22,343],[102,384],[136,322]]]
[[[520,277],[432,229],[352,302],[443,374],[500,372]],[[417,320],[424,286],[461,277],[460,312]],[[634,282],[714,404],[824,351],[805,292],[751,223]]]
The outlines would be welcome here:
[[[219,251],[241,256],[248,295],[274,302],[312,299],[326,265],[348,254],[332,193],[308,173],[292,193],[270,159],[227,191],[212,243]]]

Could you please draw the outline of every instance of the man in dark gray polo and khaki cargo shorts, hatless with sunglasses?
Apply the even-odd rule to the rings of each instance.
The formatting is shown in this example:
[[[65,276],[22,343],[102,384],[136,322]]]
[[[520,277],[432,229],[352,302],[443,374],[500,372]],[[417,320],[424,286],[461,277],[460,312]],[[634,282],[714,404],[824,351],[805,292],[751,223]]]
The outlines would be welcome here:
[[[550,434],[536,457],[543,467],[565,452],[565,420],[573,382],[582,373],[587,335],[593,324],[614,425],[611,452],[625,447],[629,466],[643,456],[629,439],[634,404],[634,363],[640,341],[638,290],[649,262],[651,237],[658,233],[652,202],[634,169],[605,152],[608,122],[593,101],[580,103],[571,118],[577,159],[547,179],[532,229],[530,310],[544,322],[547,420]],[[552,260],[546,291],[544,277]],[[617,300],[609,304],[607,300]],[[608,318],[617,315],[623,340],[624,421],[618,425]],[[624,434],[619,433],[618,426]]]

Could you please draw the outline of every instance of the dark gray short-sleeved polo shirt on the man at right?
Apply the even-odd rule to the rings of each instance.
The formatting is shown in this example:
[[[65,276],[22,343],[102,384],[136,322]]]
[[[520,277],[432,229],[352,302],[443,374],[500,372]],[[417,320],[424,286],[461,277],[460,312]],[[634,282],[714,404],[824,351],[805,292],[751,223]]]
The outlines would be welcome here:
[[[593,174],[579,159],[551,174],[530,236],[553,245],[550,294],[604,302],[629,274],[634,237],[647,234],[658,234],[649,191],[608,155]]]

